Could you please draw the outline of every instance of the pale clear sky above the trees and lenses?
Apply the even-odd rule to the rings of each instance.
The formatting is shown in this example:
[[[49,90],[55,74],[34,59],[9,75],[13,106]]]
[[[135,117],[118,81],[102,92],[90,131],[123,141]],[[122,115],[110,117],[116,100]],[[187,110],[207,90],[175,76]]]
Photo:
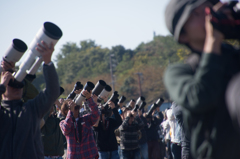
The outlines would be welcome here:
[[[62,38],[53,59],[67,42],[94,40],[111,48],[135,49],[156,35],[169,35],[164,12],[169,0],[1,0],[0,56],[14,38],[28,46],[46,21],[59,26]],[[20,61],[24,59],[27,52]],[[19,63],[17,63],[19,64]]]

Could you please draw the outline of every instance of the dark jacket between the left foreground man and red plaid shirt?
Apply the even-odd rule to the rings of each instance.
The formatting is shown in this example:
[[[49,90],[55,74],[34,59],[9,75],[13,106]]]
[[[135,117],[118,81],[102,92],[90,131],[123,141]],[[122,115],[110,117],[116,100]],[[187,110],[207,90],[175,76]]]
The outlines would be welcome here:
[[[45,124],[41,129],[42,142],[45,156],[63,156],[63,135],[59,127],[60,119],[47,113],[44,117]]]

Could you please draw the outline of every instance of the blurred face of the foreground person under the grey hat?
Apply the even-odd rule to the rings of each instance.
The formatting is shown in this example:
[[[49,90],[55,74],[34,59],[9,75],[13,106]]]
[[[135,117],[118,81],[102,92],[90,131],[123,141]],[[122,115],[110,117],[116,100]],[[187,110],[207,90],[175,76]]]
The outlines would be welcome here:
[[[180,35],[180,42],[203,44],[205,41],[205,8],[212,7],[210,2],[205,2],[192,11],[190,17],[183,26],[184,33]]]

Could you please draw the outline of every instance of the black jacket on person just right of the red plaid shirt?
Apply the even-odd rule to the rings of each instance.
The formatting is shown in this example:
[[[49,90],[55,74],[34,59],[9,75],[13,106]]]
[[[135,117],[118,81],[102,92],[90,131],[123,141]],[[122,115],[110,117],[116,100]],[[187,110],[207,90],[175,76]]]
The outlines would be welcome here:
[[[114,131],[122,124],[122,118],[120,117],[117,108],[113,109],[113,114],[115,118],[105,118],[105,126],[100,120],[98,127],[93,127],[98,151],[118,150],[118,144]]]

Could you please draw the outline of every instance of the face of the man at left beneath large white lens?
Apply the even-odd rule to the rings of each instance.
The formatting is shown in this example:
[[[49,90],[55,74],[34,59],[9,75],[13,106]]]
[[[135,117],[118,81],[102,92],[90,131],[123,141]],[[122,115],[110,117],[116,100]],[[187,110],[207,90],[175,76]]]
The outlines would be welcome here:
[[[5,93],[2,95],[3,100],[19,100],[22,98],[23,89],[7,86]]]

